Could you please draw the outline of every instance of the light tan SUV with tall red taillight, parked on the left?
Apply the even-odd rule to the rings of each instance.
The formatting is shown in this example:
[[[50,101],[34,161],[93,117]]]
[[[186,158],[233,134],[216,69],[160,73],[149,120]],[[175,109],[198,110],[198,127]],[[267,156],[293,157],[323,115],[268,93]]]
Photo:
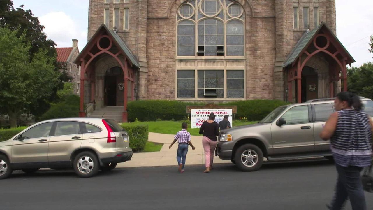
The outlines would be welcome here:
[[[33,173],[40,168],[72,168],[80,177],[91,177],[131,158],[128,133],[114,120],[47,120],[0,142],[0,179],[13,170]]]

